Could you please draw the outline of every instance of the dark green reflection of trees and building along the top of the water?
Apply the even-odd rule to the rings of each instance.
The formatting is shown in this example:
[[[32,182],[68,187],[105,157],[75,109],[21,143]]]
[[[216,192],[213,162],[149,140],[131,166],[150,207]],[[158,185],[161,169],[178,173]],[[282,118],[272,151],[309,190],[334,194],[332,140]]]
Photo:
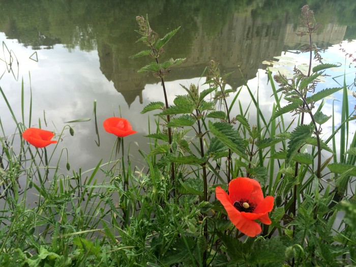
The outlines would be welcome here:
[[[295,42],[285,43],[285,36],[293,33],[291,25],[299,22],[296,11],[305,4],[315,10],[322,24],[342,22],[352,26],[351,31],[346,29],[346,34],[354,36],[356,1],[341,2],[0,0],[0,8],[6,10],[0,17],[0,31],[35,49],[51,48],[54,44],[63,44],[68,49],[97,49],[102,73],[130,105],[141,96],[146,83],[158,82],[151,75],[137,74],[137,69],[149,62],[148,58],[129,58],[141,50],[135,45],[137,15],[147,14],[152,28],[160,34],[182,26],[163,56],[187,57],[187,61],[172,71],[167,80],[200,76],[206,64],[214,59],[220,63],[221,70],[234,71],[228,82],[236,88],[243,82],[236,66],[241,66],[245,79],[253,78],[261,67],[260,62],[295,45]],[[325,36],[329,34],[327,28],[321,31]],[[339,39],[339,36],[335,38]]]

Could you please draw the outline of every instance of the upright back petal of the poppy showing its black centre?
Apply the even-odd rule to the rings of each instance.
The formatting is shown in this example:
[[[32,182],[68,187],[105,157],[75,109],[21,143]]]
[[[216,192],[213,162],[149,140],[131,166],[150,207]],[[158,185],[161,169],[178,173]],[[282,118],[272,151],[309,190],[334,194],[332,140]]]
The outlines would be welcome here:
[[[260,184],[247,177],[237,177],[229,183],[229,196],[233,202],[248,199],[249,202],[258,204],[263,199]]]

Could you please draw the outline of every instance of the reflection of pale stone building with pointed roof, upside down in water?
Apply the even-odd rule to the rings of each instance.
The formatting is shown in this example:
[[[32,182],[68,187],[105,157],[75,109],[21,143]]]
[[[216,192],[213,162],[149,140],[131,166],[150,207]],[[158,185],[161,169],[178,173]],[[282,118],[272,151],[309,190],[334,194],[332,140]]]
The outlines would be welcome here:
[[[262,68],[263,60],[281,54],[286,47],[293,48],[304,43],[303,39],[295,35],[298,28],[295,29],[293,24],[281,23],[281,21],[287,22],[287,15],[278,20],[265,22],[261,18],[253,18],[251,12],[234,13],[221,31],[212,37],[207,32],[209,29],[204,28],[197,17],[198,31],[191,43],[191,50],[186,51],[187,60],[174,68],[165,80],[200,77],[204,68],[209,65],[209,61],[215,60],[220,64],[222,73],[233,72],[228,77],[227,83],[233,89],[238,88],[244,84],[244,80],[255,77],[257,69]],[[343,40],[345,30],[346,26],[328,24],[318,35],[315,35],[314,42],[338,43]],[[184,40],[176,42],[175,45],[179,46],[179,42]],[[122,66],[118,54],[100,41],[98,41],[98,52],[101,71],[108,80],[113,81],[116,90],[123,94],[129,106],[137,96],[142,102],[141,93],[145,84],[159,82],[151,73],[137,73],[137,69]],[[174,51],[171,52],[174,54]],[[244,77],[238,69],[239,66]]]

